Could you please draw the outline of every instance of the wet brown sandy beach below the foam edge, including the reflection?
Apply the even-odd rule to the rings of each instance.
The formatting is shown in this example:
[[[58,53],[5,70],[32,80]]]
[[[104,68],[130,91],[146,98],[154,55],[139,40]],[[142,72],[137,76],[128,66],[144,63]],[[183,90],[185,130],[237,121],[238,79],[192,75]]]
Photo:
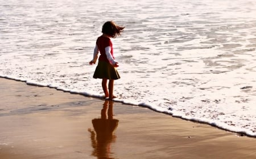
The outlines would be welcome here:
[[[0,158],[256,158],[256,139],[0,78]]]

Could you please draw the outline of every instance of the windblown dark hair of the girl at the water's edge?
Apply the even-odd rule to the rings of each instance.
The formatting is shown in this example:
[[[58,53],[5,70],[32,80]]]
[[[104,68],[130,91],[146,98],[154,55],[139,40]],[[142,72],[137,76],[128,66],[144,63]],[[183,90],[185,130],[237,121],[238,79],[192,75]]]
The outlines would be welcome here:
[[[123,31],[125,27],[119,27],[117,24],[115,24],[113,21],[108,21],[103,24],[102,26],[102,33],[105,33],[106,35],[110,37],[117,37],[121,35],[121,32]]]

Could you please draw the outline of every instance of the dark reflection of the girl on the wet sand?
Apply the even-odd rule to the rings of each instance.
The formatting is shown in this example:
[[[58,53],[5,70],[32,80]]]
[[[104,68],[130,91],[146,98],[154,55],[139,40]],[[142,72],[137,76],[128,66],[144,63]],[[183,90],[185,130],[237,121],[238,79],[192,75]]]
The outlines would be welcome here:
[[[109,105],[108,105],[109,104]],[[108,117],[106,112],[108,110]],[[118,126],[118,120],[113,119],[113,102],[106,100],[101,110],[101,118],[93,119],[93,128],[88,131],[91,133],[92,147],[94,149],[92,155],[98,158],[110,158],[110,146],[115,141],[113,132]]]

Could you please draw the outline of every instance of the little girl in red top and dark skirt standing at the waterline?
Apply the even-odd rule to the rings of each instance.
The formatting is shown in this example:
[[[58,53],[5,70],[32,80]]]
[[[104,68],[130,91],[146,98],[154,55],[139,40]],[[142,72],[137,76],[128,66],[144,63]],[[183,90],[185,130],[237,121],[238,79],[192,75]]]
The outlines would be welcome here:
[[[116,98],[113,95],[114,80],[120,78],[117,68],[118,62],[116,62],[113,55],[113,45],[110,37],[115,38],[121,35],[125,27],[119,27],[112,21],[104,23],[102,26],[102,35],[97,38],[96,46],[94,48],[93,60],[89,62],[90,65],[96,63],[98,58],[98,51],[100,51],[100,57],[98,58],[98,65],[94,72],[93,78],[102,79],[102,89],[105,93],[105,98],[112,100]],[[109,90],[107,87],[109,79]]]

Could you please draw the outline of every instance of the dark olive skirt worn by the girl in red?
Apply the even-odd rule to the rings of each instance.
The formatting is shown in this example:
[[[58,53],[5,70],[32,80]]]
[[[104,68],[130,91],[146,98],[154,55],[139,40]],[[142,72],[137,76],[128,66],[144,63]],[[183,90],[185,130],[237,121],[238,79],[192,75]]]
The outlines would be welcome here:
[[[120,78],[120,75],[118,74],[117,68],[115,68],[108,62],[99,60],[93,78],[117,80]]]

